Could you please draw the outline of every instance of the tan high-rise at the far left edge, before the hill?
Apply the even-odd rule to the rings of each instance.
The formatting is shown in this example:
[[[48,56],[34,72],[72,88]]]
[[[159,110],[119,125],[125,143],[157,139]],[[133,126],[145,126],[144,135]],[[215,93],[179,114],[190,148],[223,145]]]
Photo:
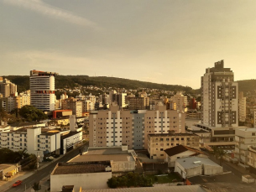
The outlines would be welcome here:
[[[7,79],[3,80],[3,77],[1,77],[0,94],[3,97],[17,96],[17,86],[13,84],[10,80],[7,80]]]

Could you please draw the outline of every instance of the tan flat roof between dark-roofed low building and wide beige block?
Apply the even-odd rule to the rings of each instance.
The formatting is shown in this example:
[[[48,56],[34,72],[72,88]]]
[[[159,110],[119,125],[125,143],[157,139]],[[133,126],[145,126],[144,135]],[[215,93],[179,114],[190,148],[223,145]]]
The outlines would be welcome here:
[[[133,155],[121,148],[90,149],[87,153],[71,160],[71,162],[92,162],[92,161],[134,161]]]

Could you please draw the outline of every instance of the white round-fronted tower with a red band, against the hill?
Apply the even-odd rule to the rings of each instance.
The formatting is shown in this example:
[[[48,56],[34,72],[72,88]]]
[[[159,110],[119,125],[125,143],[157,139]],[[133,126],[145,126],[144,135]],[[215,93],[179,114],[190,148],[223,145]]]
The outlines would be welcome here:
[[[31,70],[29,77],[30,103],[50,112],[55,110],[55,72]]]

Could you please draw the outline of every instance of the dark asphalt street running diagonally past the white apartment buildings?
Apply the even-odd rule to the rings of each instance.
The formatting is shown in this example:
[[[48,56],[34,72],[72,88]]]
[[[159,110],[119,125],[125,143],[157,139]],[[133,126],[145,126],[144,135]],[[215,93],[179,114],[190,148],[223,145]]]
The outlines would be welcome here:
[[[35,171],[35,173],[33,175],[29,176],[29,178],[24,179],[23,183],[21,185],[15,187],[15,188],[10,188],[6,191],[8,191],[8,192],[24,192],[25,189],[29,189],[34,184],[34,182],[38,183],[41,179],[44,179],[47,175],[50,175],[50,173],[53,171],[53,169],[55,168],[57,163],[67,162],[71,158],[76,157],[76,155],[78,155],[80,153],[80,149],[86,148],[87,145],[88,145],[88,143],[85,143],[85,144],[81,145],[81,147],[73,149],[71,152],[66,153],[60,159],[55,161],[54,163],[50,163],[43,169]]]

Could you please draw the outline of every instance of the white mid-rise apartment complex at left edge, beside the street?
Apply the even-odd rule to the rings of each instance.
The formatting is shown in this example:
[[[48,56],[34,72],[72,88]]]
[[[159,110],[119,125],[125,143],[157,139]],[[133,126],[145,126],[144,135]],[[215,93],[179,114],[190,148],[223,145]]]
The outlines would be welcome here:
[[[41,127],[21,128],[18,131],[0,132],[0,148],[13,151],[26,148],[40,158],[60,149],[60,132],[41,132]]]

